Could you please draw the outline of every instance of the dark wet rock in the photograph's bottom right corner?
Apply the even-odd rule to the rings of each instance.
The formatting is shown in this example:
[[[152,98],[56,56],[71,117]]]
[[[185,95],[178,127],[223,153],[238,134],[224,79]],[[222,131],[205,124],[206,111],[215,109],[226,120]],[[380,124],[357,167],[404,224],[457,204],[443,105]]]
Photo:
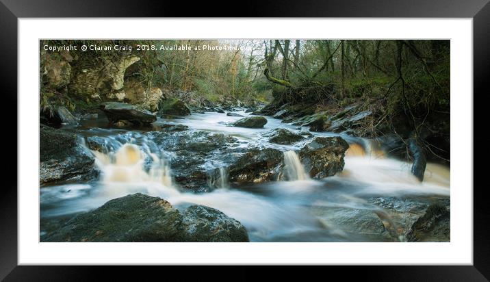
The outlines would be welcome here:
[[[446,205],[433,203],[424,216],[413,223],[407,234],[409,242],[450,242],[450,211]]]

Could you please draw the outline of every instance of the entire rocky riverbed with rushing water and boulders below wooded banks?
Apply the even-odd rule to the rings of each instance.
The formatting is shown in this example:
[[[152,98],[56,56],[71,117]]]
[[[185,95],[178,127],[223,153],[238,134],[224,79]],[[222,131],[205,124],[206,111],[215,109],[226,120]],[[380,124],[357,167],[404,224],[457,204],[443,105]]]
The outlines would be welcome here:
[[[369,113],[283,122],[171,102],[40,128],[41,241],[450,240],[448,168],[428,164],[420,182],[351,136]]]

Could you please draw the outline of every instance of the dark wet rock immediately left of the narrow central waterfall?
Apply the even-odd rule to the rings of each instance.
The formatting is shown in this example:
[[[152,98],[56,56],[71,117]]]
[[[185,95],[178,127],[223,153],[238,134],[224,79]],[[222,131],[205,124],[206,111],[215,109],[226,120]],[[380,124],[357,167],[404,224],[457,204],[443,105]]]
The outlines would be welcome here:
[[[279,150],[250,149],[229,166],[229,181],[236,183],[261,183],[276,180],[283,164]]]

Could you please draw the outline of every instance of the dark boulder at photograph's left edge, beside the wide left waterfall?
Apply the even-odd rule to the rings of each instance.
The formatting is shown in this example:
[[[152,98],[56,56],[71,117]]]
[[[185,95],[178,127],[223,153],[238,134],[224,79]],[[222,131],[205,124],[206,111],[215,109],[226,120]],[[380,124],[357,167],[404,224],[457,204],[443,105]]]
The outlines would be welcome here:
[[[40,184],[52,181],[90,180],[99,176],[94,157],[77,136],[51,127],[40,128]]]

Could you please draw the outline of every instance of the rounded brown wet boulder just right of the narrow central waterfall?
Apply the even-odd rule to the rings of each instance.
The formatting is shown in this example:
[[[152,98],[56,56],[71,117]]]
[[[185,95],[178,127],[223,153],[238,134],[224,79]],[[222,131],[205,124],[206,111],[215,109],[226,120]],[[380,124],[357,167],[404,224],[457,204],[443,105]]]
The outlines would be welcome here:
[[[344,155],[349,148],[340,137],[315,137],[299,151],[299,157],[310,177],[323,178],[344,169]]]

